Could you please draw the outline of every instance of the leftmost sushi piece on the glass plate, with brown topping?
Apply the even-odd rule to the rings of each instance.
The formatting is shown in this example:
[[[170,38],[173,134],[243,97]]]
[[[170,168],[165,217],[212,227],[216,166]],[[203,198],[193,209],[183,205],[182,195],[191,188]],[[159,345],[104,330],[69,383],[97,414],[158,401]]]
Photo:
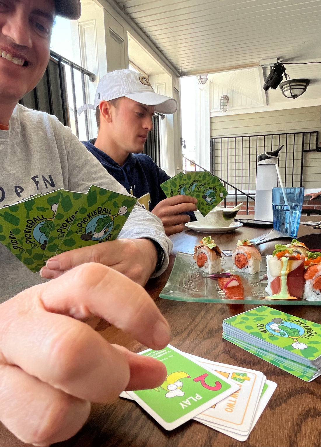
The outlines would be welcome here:
[[[222,270],[222,252],[211,236],[203,237],[202,243],[194,248],[194,260],[204,273],[218,273]]]

